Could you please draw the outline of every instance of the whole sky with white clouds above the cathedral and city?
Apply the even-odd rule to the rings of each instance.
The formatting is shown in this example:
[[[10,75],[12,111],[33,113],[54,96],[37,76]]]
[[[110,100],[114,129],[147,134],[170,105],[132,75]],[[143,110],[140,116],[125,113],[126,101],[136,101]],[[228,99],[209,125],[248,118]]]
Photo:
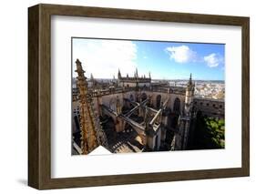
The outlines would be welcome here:
[[[77,58],[87,77],[117,77],[151,73],[157,79],[224,80],[225,46],[155,41],[73,38],[73,68]],[[73,69],[74,70],[74,69]],[[73,75],[73,77],[76,75]]]

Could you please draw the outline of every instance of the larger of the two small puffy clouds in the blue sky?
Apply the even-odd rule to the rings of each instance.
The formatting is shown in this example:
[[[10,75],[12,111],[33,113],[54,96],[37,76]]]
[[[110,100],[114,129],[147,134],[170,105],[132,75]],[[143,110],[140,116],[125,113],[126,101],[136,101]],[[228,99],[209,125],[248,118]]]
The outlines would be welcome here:
[[[189,46],[169,46],[166,48],[169,58],[174,59],[177,63],[188,63],[196,60],[197,53]]]

